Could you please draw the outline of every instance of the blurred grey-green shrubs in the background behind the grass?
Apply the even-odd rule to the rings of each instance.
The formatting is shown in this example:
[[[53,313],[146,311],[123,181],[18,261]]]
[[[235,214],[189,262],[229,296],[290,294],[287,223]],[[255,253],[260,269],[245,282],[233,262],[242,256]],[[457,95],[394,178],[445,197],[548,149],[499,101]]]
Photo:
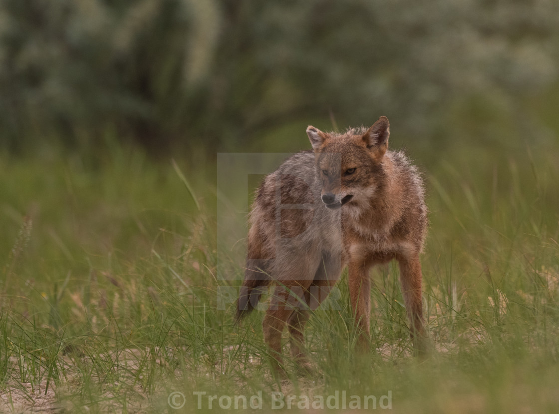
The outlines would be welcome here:
[[[526,122],[558,53],[548,0],[3,0],[0,139],[231,149],[330,113],[444,140],[472,96]]]

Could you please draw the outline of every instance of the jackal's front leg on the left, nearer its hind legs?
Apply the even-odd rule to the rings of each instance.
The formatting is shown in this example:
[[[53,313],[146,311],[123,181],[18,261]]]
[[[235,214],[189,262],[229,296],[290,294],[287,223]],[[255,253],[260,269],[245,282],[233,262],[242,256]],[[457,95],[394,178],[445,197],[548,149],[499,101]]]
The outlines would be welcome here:
[[[349,298],[357,327],[357,348],[360,351],[368,351],[371,342],[371,279],[369,268],[363,261],[349,263]]]

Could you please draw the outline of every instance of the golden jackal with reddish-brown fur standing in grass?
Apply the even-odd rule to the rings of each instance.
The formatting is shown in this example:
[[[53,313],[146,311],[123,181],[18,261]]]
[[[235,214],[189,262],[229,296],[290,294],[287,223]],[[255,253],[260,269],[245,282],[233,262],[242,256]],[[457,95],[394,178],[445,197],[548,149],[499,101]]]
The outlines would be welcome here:
[[[343,134],[309,126],[314,151],[288,158],[258,189],[236,317],[257,305],[267,285],[275,286],[263,321],[275,369],[282,365],[286,324],[293,357],[305,363],[309,309],[328,295],[345,265],[358,346],[368,349],[369,269],[394,258],[411,338],[417,351],[425,350],[419,262],[427,229],[423,182],[403,153],[387,150],[389,126],[386,116],[369,129]]]

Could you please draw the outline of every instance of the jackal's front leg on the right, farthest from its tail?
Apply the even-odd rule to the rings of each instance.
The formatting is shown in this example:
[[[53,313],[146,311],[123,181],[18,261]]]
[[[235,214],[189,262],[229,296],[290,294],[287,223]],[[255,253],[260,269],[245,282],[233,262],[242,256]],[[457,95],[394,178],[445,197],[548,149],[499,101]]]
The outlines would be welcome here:
[[[419,255],[397,258],[400,265],[400,283],[404,294],[406,313],[410,320],[410,336],[415,351],[423,355],[427,352],[428,342],[423,323],[423,302],[421,301],[421,264]]]

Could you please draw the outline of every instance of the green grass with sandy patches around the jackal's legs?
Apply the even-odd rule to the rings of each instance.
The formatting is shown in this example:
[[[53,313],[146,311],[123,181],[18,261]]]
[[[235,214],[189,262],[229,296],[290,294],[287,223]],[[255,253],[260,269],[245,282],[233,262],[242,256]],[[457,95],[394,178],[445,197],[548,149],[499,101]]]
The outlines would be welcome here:
[[[373,272],[372,351],[355,355],[344,272],[306,330],[320,374],[289,380],[269,373],[262,313],[237,328],[233,304],[218,309],[239,281],[217,279],[215,166],[107,154],[0,156],[0,411],[211,411],[196,391],[262,391],[263,408],[272,391],[390,391],[395,412],[557,411],[557,148],[471,145],[423,164],[432,357],[411,356],[395,265]]]

